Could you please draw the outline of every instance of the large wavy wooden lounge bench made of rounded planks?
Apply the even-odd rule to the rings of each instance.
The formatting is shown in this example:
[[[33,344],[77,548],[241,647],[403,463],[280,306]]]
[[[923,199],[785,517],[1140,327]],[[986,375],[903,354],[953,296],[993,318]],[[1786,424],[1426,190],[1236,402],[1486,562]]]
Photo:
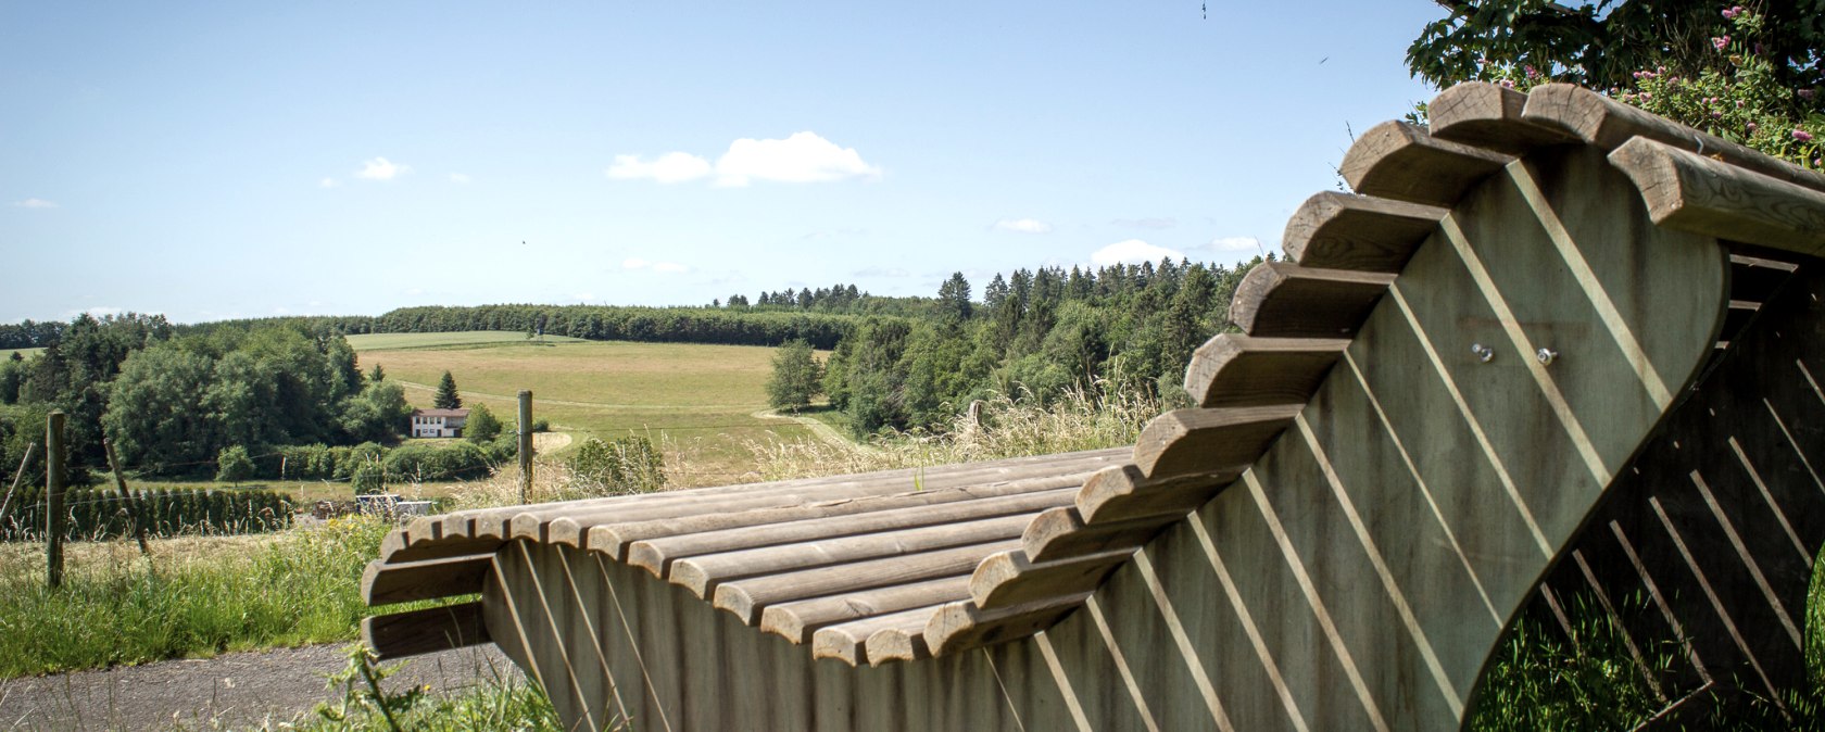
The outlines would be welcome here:
[[[480,601],[367,639],[493,641],[575,728],[1409,730],[1580,595],[1663,721],[1779,699],[1825,177],[1571,86],[1431,113],[1350,148],[1132,449],[416,518],[369,602]]]

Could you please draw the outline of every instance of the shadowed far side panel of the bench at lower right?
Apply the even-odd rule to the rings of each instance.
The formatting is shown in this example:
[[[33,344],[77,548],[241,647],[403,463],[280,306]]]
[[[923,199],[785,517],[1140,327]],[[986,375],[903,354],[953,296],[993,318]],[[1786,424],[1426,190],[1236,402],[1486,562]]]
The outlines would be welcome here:
[[[1668,703],[1747,692],[1779,705],[1803,688],[1807,591],[1825,546],[1821,298],[1825,265],[1807,261],[1621,473],[1575,560],[1542,580],[1611,606]],[[1549,613],[1544,601],[1529,608]]]

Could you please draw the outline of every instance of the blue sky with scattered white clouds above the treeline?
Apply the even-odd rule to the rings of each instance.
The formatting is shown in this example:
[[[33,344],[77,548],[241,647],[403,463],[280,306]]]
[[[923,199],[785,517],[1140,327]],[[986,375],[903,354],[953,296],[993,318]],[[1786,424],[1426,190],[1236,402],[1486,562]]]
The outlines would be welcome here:
[[[0,5],[0,321],[1272,250],[1425,0]],[[524,241],[524,245],[522,245]],[[1157,259],[1157,256],[1155,256]]]

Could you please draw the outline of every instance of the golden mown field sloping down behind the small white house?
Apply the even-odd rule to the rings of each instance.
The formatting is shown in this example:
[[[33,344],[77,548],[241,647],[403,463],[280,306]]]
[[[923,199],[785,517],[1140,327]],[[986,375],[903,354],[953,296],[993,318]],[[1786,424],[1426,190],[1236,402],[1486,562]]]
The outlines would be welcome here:
[[[533,391],[533,418],[575,440],[646,434],[684,486],[754,478],[750,444],[810,434],[766,413],[774,349],[748,345],[628,343],[524,332],[352,336],[361,369],[380,365],[429,407],[438,378],[456,378],[464,405],[485,403],[504,422]]]

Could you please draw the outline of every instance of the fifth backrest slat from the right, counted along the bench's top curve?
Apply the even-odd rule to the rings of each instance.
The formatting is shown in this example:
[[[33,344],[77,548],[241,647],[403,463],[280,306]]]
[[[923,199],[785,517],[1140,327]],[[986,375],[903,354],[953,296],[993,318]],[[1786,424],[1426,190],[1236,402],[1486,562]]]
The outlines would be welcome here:
[[[1299,267],[1358,272],[1400,272],[1447,208],[1321,192],[1305,199],[1279,239]]]

